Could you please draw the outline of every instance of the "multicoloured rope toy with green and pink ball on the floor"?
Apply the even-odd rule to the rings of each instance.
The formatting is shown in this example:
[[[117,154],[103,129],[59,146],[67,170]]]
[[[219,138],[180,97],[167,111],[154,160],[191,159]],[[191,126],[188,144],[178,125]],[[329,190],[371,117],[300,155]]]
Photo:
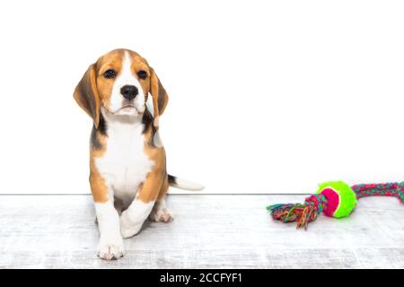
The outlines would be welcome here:
[[[343,181],[324,182],[303,204],[273,204],[267,206],[267,210],[274,220],[296,222],[297,229],[307,230],[309,222],[314,222],[321,212],[334,218],[348,216],[355,209],[357,199],[365,196],[395,196],[404,204],[404,182],[352,187]]]

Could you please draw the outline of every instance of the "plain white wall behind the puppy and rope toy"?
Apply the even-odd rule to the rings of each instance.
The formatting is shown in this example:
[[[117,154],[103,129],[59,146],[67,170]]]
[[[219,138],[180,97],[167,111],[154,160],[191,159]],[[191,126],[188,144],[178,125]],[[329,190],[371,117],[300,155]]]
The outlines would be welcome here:
[[[87,193],[72,94],[131,48],[171,98],[171,174],[206,192],[404,179],[400,1],[2,1],[1,193]]]

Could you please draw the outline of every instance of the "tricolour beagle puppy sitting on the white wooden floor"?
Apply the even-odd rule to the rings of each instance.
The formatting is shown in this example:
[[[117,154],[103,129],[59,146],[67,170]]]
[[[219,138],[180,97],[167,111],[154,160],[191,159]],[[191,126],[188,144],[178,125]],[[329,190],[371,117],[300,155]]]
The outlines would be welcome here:
[[[152,96],[153,110],[146,106]],[[92,117],[90,186],[100,230],[97,254],[124,255],[123,239],[136,235],[150,217],[171,222],[164,197],[169,186],[198,184],[167,173],[158,133],[168,95],[144,57],[116,49],[90,65],[77,84],[75,101]]]

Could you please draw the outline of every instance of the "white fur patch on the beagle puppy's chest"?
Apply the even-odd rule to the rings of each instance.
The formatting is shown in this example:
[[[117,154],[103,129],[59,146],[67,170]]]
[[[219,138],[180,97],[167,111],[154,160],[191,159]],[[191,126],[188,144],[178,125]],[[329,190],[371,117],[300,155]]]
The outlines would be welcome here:
[[[110,119],[107,120],[106,152],[95,160],[95,164],[113,188],[114,196],[131,202],[147,173],[152,170],[154,161],[145,154],[144,125],[141,121],[114,122]]]

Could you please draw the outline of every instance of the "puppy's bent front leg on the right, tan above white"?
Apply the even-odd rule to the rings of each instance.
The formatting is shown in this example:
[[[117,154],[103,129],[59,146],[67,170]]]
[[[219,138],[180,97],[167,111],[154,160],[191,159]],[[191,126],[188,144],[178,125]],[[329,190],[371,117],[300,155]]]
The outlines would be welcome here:
[[[120,232],[124,239],[136,235],[152,212],[162,187],[163,175],[163,171],[149,173],[143,186],[139,188],[135,200],[120,216]]]

